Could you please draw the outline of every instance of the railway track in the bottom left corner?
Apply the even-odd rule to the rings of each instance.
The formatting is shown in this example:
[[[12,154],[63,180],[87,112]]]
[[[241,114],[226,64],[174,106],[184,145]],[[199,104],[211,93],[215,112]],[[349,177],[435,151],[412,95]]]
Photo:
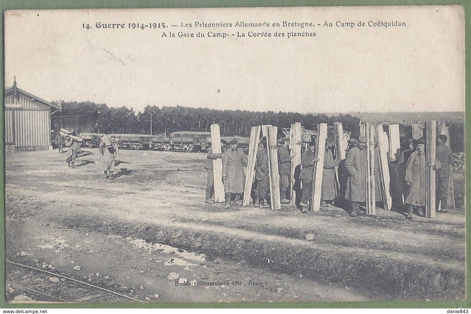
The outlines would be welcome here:
[[[6,268],[9,302],[146,303],[109,287],[100,287],[10,260],[6,260]]]

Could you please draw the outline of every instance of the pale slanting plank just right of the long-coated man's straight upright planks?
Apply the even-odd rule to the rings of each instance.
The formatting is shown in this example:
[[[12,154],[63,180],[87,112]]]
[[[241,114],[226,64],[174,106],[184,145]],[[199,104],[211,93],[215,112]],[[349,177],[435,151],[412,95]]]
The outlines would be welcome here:
[[[390,172],[389,172],[389,163],[388,163],[388,151],[389,151],[389,141],[388,135],[383,131],[382,124],[375,126],[375,138],[378,141],[378,146],[376,148],[379,160],[379,176],[380,176],[380,191],[382,194],[382,201],[384,203],[384,209],[391,210],[392,207],[392,196],[390,194]]]

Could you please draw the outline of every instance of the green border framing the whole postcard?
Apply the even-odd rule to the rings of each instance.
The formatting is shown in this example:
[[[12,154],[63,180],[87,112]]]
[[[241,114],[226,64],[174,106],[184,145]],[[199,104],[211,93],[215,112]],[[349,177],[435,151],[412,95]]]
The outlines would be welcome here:
[[[461,5],[464,8],[465,15],[465,112],[469,112],[470,99],[471,99],[471,38],[469,31],[471,31],[471,2],[467,0],[169,0],[169,1],[156,1],[156,0],[0,0],[0,8],[2,13],[9,9],[97,9],[97,8],[225,8],[225,7],[300,7],[300,6],[378,6],[378,5],[445,5],[455,4]],[[1,60],[3,60],[3,14],[1,15]],[[2,68],[2,75],[0,82],[4,85],[5,73]],[[4,89],[1,89],[4,93]],[[2,95],[3,99],[3,95]],[[4,111],[0,112],[0,119],[3,121]],[[471,131],[471,116],[465,114],[465,134],[466,140],[469,139]],[[4,132],[0,133],[0,164],[4,163]],[[465,142],[466,151],[466,182],[471,179],[470,163],[468,156],[471,156],[471,143],[469,140]],[[4,210],[4,171],[0,176],[0,186],[3,188],[3,193],[0,194],[1,207]],[[467,188],[465,191],[466,199],[471,198],[471,189]],[[312,302],[292,302],[292,303],[153,303],[153,304],[81,304],[81,305],[48,305],[48,304],[34,304],[34,305],[11,305],[5,301],[5,260],[0,258],[0,308],[471,308],[471,218],[470,206],[466,205],[466,261],[467,281],[466,281],[466,299],[463,301],[393,301],[393,302],[329,302],[329,303],[312,303]],[[5,252],[5,215],[4,212],[0,215],[0,252]],[[4,256],[4,254],[0,254]]]

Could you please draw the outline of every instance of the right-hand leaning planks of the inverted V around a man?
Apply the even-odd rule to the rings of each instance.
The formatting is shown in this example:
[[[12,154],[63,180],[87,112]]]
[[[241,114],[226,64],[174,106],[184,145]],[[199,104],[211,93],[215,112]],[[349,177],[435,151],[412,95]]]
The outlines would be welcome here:
[[[268,169],[270,171],[268,179],[270,182],[270,204],[272,210],[281,209],[280,202],[280,178],[278,174],[278,148],[276,146],[276,136],[278,128],[276,126],[262,126],[263,136],[267,137],[268,148]]]

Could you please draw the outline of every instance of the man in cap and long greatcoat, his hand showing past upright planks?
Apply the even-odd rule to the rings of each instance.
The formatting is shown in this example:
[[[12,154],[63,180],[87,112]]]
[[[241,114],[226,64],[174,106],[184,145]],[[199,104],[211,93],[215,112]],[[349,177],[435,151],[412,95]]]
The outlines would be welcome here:
[[[345,199],[350,201],[350,216],[355,217],[360,211],[360,203],[366,202],[366,136],[358,137],[357,146],[347,152],[345,158],[345,168],[349,177],[347,178],[347,187]],[[378,173],[374,169],[374,175]]]

